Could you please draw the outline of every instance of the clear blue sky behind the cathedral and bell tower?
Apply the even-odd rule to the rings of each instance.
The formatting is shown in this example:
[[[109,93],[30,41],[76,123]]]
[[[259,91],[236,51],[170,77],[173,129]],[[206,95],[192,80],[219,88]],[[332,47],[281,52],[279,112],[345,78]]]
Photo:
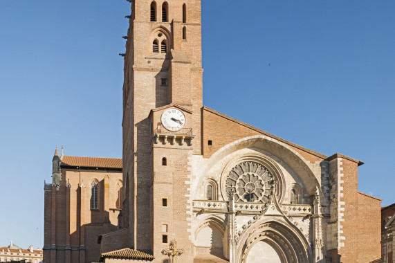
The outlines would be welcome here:
[[[122,157],[129,8],[0,1],[0,246],[42,248],[55,145]],[[392,0],[203,0],[204,105],[365,161],[359,190],[393,203],[394,10]]]

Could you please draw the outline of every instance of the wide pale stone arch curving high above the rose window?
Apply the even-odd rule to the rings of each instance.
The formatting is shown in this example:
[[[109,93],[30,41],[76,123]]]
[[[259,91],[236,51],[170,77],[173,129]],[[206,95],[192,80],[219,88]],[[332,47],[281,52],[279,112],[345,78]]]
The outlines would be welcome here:
[[[216,163],[219,163],[223,158],[232,154],[232,152],[244,148],[262,149],[284,161],[284,163],[299,176],[307,192],[313,192],[315,186],[320,185],[313,170],[311,170],[309,166],[309,161],[306,161],[306,159],[290,145],[265,135],[248,136],[221,147],[210,157],[205,167],[201,170],[200,176],[203,177],[205,174],[208,174]],[[201,178],[196,178],[196,180],[201,180]]]

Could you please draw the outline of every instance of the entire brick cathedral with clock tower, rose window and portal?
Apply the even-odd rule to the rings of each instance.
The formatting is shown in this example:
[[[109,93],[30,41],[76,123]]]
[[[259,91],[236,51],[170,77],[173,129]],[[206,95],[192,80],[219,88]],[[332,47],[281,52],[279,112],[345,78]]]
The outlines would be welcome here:
[[[76,261],[61,256],[46,262],[92,262],[81,252],[81,240],[84,249],[95,242],[96,260],[107,263],[380,258],[381,200],[358,192],[363,162],[314,152],[204,107],[201,0],[130,2],[126,53],[120,54],[125,59],[122,164],[113,170],[102,166],[104,191],[120,181],[122,194],[120,188],[113,194],[122,203],[107,192],[118,210],[104,213],[107,225],[91,225],[100,228],[99,237],[80,231]],[[115,174],[107,178],[107,172]],[[68,186],[62,176],[55,179],[46,186],[48,199],[49,191],[59,191],[57,185],[62,191],[82,187],[78,180]],[[89,177],[84,187],[92,183]],[[84,191],[86,197],[95,194]],[[105,200],[103,211],[111,207]],[[78,224],[99,212],[85,209]],[[68,229],[62,240],[70,243],[69,234]],[[48,240],[44,260],[46,251],[70,246],[58,249]]]

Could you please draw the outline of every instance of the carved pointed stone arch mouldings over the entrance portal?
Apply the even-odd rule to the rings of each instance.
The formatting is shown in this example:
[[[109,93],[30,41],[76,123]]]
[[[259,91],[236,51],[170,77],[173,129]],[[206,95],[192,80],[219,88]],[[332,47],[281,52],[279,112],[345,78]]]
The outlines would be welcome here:
[[[248,263],[248,254],[258,242],[266,242],[278,251],[282,262],[313,262],[307,239],[292,224],[282,219],[258,220],[238,239],[237,256],[240,263]]]

